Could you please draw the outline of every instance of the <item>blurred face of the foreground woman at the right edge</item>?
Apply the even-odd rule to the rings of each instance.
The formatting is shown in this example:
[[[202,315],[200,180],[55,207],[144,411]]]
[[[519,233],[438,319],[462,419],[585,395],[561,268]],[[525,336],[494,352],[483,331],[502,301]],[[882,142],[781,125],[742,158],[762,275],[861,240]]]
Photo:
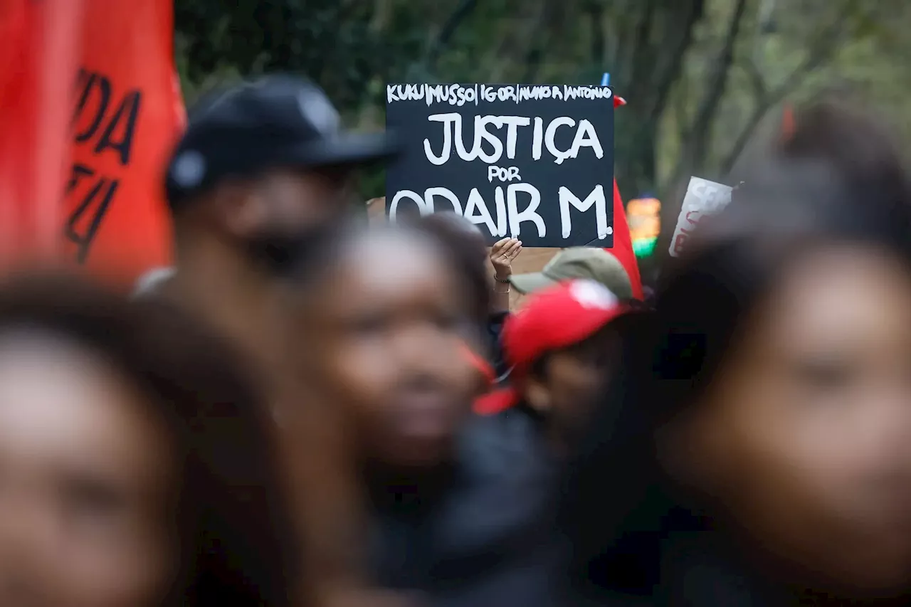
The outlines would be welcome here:
[[[861,248],[796,262],[685,433],[695,481],[810,584],[911,581],[911,277]]]

